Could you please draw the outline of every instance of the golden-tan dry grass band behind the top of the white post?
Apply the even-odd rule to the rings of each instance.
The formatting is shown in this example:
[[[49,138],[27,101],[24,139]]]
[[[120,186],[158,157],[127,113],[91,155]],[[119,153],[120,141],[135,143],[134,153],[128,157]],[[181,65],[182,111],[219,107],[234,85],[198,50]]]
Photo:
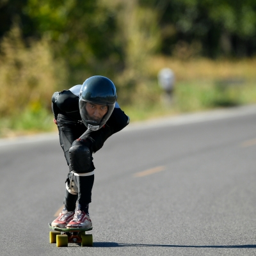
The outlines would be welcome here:
[[[179,60],[156,56],[148,65],[150,74],[154,76],[157,76],[157,72],[164,67],[172,68],[177,81],[256,79],[256,58],[244,60],[209,60],[205,58]]]

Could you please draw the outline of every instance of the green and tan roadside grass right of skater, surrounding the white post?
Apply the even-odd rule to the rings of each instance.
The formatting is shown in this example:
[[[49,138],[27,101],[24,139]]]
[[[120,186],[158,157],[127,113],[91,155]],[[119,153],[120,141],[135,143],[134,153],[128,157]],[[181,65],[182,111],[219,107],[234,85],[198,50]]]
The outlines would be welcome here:
[[[134,93],[132,104],[123,107],[133,121],[256,103],[256,58],[180,60],[152,56],[147,63],[151,80],[146,82],[146,97],[147,86],[143,86],[143,90]],[[175,74],[173,97],[169,101],[157,83],[162,68],[171,68]]]

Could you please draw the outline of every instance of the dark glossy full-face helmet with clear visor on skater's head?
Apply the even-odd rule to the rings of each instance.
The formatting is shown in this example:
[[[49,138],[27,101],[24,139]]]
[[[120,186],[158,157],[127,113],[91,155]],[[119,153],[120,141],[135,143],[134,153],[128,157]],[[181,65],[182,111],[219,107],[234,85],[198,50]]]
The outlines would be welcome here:
[[[79,93],[79,111],[84,125],[97,131],[106,124],[115,108],[116,97],[115,84],[107,77],[86,79]]]

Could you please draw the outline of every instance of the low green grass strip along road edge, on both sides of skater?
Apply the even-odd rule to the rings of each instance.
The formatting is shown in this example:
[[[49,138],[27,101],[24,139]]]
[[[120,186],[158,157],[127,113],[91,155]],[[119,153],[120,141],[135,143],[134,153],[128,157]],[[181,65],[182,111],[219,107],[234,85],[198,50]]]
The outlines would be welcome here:
[[[143,96],[138,94],[139,100],[134,98],[134,104],[122,106],[122,102],[119,103],[125,113],[130,116],[131,122],[256,103],[254,81],[233,82],[182,81],[175,84],[172,100],[168,101],[155,81],[150,83],[150,90],[143,89]],[[0,136],[54,131],[55,125],[52,119],[51,111],[44,109],[40,104],[33,104],[17,115],[1,118]]]

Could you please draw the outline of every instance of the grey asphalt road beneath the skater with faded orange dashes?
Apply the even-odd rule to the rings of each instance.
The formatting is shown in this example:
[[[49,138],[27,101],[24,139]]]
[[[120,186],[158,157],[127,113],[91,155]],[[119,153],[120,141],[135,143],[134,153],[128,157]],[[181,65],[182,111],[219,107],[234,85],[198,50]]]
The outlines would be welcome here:
[[[0,255],[256,255],[255,106],[129,125],[93,157],[93,248],[56,248],[57,132],[0,140]]]

